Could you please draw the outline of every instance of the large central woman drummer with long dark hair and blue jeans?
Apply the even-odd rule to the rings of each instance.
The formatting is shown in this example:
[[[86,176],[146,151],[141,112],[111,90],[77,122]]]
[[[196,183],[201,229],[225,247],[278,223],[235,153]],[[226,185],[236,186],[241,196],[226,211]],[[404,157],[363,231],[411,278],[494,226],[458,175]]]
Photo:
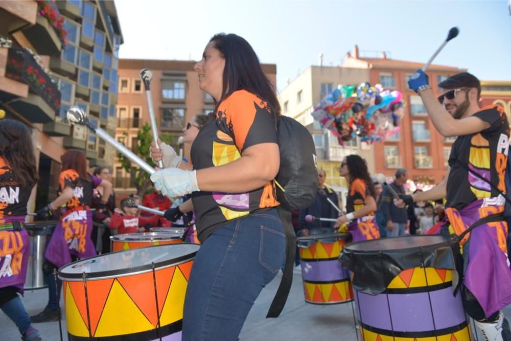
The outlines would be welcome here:
[[[195,65],[214,119],[181,163],[151,176],[170,197],[192,193],[202,246],[190,274],[183,340],[236,340],[262,288],[280,270],[286,237],[275,209],[280,105],[250,44],[215,35]],[[174,166],[177,167],[177,166]]]

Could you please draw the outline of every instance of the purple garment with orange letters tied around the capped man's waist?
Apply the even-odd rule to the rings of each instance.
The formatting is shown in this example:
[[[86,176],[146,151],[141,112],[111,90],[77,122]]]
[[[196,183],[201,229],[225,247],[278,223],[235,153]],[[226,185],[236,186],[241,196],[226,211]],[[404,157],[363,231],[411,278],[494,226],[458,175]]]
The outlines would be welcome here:
[[[446,210],[446,213],[451,222],[450,233],[453,234],[453,230],[459,233],[460,228],[468,228],[483,217],[501,212],[502,206],[485,204],[485,200],[480,199],[461,211],[452,208],[448,210],[450,212]],[[506,237],[505,221],[479,225],[470,233],[468,255],[463,254],[463,284],[474,294],[486,317],[511,303],[511,269],[507,258]]]

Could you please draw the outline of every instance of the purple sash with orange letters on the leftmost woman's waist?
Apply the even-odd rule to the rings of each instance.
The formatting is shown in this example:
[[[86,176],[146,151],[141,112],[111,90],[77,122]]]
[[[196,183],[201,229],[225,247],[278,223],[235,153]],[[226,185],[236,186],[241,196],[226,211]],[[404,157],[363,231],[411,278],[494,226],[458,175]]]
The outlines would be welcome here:
[[[27,231],[0,231],[0,288],[13,286],[23,293],[29,255]]]

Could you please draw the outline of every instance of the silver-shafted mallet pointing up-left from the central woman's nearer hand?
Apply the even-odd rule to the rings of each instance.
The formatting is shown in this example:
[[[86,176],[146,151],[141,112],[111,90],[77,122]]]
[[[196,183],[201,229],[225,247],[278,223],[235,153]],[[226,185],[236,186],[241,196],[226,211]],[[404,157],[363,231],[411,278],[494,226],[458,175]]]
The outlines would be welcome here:
[[[100,127],[94,126],[92,124],[88,117],[87,113],[82,110],[82,108],[78,106],[72,106],[67,110],[66,117],[69,120],[69,122],[73,124],[81,124],[86,127],[88,127],[90,130],[94,131],[98,137],[108,142],[112,147],[117,149],[121,154],[129,158],[132,162],[137,164],[140,168],[148,172],[150,175],[152,175],[155,170],[151,166],[149,166],[142,158],[140,158],[138,155],[133,153],[131,150],[126,148],[122,143],[112,138],[105,130],[103,130]]]

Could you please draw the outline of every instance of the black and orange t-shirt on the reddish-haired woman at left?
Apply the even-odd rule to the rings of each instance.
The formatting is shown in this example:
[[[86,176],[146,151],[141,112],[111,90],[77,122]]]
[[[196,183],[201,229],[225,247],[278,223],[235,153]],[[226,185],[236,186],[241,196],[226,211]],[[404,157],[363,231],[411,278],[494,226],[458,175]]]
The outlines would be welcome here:
[[[92,189],[101,184],[101,179],[90,175],[91,181],[82,179],[74,169],[66,169],[59,175],[59,188],[57,195],[62,194],[64,188],[73,189],[73,198],[63,205],[62,216],[73,211],[87,210],[92,204]]]

